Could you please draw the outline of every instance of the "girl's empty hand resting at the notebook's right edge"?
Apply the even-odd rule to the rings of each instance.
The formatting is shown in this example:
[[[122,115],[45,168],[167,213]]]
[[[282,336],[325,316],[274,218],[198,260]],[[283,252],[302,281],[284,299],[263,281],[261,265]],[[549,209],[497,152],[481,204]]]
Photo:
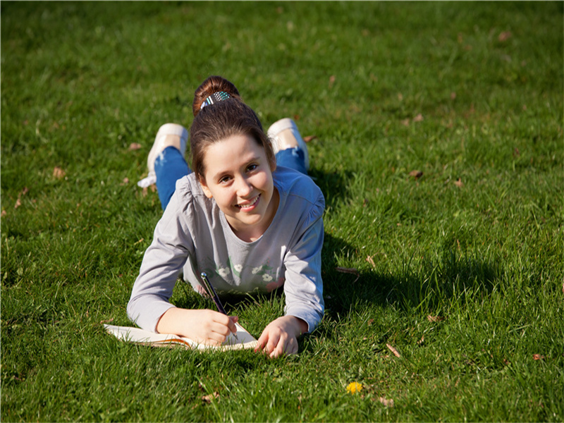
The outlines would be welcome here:
[[[259,338],[255,352],[262,350],[271,358],[298,354],[298,336],[307,332],[307,323],[295,316],[271,321]]]

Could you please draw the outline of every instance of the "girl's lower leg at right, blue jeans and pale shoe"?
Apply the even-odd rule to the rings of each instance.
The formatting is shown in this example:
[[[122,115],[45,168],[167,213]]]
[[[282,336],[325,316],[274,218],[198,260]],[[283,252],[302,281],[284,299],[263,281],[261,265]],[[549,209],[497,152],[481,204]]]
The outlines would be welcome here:
[[[300,135],[298,126],[290,118],[284,118],[271,125],[268,135],[272,140],[276,164],[286,166],[307,175],[309,154],[307,145]]]

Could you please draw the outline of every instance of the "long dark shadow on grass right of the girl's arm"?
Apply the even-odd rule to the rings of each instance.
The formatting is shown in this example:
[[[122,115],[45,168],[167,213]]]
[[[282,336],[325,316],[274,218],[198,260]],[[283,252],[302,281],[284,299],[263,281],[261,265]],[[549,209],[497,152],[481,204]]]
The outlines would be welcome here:
[[[360,270],[357,274],[337,269],[335,252],[352,251],[344,240],[326,234],[324,243],[324,297],[326,318],[341,319],[355,307],[393,306],[400,312],[436,313],[458,305],[467,295],[489,295],[500,276],[496,262],[477,256],[457,255],[447,247],[439,259],[422,259],[417,269],[411,262],[381,273]]]

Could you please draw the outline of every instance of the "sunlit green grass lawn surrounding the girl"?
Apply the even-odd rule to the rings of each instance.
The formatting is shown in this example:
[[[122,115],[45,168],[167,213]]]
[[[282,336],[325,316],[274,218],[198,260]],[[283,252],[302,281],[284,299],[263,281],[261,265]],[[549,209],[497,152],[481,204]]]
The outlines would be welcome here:
[[[0,8],[2,421],[564,420],[562,2]],[[295,357],[100,324],[161,215],[154,134],[210,74],[317,135],[327,310]],[[231,307],[255,336],[282,308]]]

